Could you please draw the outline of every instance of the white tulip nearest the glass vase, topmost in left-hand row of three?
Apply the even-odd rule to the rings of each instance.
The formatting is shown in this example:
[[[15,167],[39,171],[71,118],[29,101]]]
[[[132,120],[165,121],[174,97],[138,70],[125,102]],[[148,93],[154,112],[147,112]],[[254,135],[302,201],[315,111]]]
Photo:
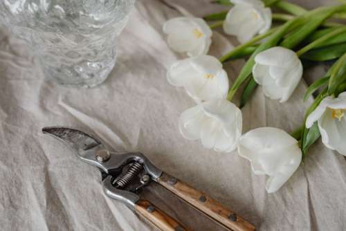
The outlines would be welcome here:
[[[212,42],[212,30],[200,18],[177,17],[166,21],[163,32],[168,35],[168,46],[188,56],[205,55]]]

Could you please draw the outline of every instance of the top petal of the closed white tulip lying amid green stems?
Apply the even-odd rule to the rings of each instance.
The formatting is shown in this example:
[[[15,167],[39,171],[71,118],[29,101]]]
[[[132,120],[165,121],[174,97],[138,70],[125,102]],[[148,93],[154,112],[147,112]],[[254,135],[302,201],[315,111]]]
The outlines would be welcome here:
[[[298,56],[293,50],[275,46],[264,50],[255,56],[255,62],[266,66],[280,66],[291,68],[292,63],[296,63]]]

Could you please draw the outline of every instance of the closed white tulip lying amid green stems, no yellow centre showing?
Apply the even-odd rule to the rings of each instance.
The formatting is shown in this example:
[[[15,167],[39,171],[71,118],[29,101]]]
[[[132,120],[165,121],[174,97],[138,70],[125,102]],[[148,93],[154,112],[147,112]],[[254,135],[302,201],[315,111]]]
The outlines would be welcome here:
[[[288,100],[302,73],[302,62],[293,50],[276,46],[255,56],[253,77],[262,86],[264,95],[273,100]]]

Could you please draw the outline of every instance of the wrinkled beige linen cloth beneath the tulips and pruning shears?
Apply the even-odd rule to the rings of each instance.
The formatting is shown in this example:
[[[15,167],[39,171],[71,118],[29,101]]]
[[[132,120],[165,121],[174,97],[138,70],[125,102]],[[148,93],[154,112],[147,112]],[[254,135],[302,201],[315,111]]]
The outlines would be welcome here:
[[[1,230],[154,230],[102,194],[98,170],[42,135],[42,127],[51,125],[93,131],[113,149],[142,151],[257,230],[346,230],[346,160],[340,154],[314,145],[289,182],[266,194],[266,177],[255,176],[236,151],[216,153],[179,134],[179,115],[194,102],[165,78],[167,67],[181,58],[161,30],[167,19],[187,13],[176,4],[195,15],[215,10],[208,0],[138,1],[119,37],[116,68],[95,89],[68,89],[44,79],[26,46],[0,33]],[[219,57],[230,47],[215,33],[210,53]],[[232,79],[242,63],[226,65]],[[322,69],[313,75],[322,76]],[[301,82],[284,104],[257,89],[243,109],[244,132],[264,126],[293,131],[312,100],[300,100],[305,89]]]

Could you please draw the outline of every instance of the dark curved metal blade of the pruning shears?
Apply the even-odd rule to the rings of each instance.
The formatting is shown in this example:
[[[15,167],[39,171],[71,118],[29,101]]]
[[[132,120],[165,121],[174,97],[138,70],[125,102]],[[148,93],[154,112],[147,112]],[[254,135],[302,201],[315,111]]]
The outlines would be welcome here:
[[[64,144],[75,149],[82,158],[84,158],[85,154],[90,149],[104,149],[99,140],[77,129],[70,129],[67,127],[44,127],[42,132],[57,138],[64,142]]]

